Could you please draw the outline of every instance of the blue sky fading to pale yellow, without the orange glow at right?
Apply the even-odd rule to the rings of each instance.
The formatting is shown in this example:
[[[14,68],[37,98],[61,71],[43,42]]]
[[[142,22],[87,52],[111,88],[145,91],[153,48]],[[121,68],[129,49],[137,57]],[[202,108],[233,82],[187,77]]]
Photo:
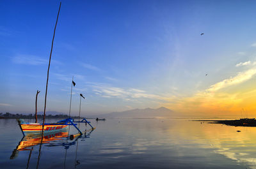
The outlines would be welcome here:
[[[0,2],[0,112],[34,112],[36,90],[43,110],[59,3]],[[246,71],[239,62],[255,61],[255,4],[62,1],[47,111],[68,112],[72,76],[74,114],[80,92],[84,115],[161,106],[184,111],[184,98]]]

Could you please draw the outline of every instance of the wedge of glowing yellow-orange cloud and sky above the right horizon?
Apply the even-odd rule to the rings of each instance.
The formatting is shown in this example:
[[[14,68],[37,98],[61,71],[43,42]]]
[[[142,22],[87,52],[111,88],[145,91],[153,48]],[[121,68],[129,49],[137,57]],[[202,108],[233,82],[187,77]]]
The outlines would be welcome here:
[[[256,117],[256,69],[237,73],[211,85],[194,96],[179,98],[163,104],[182,115],[202,117]]]

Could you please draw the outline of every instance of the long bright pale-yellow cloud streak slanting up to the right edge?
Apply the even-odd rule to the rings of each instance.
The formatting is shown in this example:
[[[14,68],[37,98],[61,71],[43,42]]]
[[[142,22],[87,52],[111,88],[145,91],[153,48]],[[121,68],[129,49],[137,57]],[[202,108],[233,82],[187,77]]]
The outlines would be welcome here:
[[[218,91],[224,87],[228,87],[230,85],[240,84],[242,82],[245,82],[246,80],[250,80],[250,78],[252,78],[253,75],[255,75],[255,74],[256,74],[255,68],[244,71],[244,72],[239,72],[236,75],[236,77],[230,77],[230,78],[222,80],[221,82],[218,82],[214,85],[211,85],[211,87],[209,87],[209,89],[207,89],[206,91],[214,92],[214,91]]]

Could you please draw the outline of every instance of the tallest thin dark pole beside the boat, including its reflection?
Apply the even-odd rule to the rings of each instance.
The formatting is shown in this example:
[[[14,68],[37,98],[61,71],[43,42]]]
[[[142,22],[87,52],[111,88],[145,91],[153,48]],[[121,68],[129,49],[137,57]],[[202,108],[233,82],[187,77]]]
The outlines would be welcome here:
[[[61,7],[61,2],[60,2],[60,7]],[[56,24],[55,24],[55,27],[54,27],[54,32],[53,32],[53,37],[52,37],[52,47],[53,47],[53,41],[54,41],[56,26],[57,26],[57,23],[58,23],[59,14],[60,14],[60,8],[59,8],[59,11],[58,11],[57,20],[56,20]],[[49,70],[50,70],[51,56],[52,56],[52,47],[51,47],[49,65],[48,65],[48,70],[47,70],[47,80],[46,80],[45,99],[44,99],[44,119],[43,119],[42,136],[41,136],[42,138],[41,138],[41,143],[40,143],[40,148],[39,148],[39,154],[38,154],[36,169],[39,166],[39,160],[40,160],[41,149],[42,149],[42,142],[43,142],[43,137],[44,137],[45,108],[46,108],[46,98],[47,98],[47,89],[48,89],[48,80],[49,80]]]

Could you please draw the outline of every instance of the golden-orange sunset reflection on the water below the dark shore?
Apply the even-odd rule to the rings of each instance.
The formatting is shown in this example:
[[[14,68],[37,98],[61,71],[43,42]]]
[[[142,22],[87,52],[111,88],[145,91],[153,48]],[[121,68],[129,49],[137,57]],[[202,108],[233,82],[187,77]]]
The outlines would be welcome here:
[[[256,168],[256,128],[191,122],[187,129],[180,134],[190,143],[199,144],[246,168]]]

